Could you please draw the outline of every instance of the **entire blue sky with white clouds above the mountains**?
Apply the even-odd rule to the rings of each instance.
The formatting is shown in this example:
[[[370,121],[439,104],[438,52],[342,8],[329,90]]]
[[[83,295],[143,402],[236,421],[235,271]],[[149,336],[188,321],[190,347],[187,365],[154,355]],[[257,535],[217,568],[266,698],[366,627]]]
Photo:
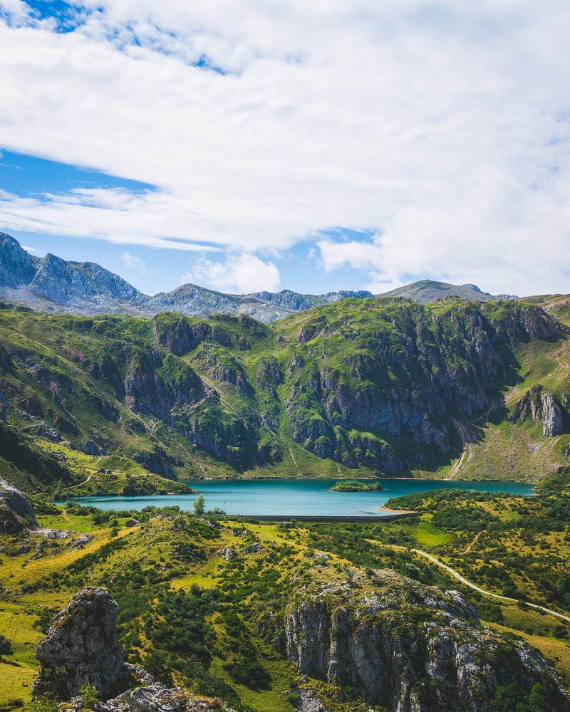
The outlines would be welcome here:
[[[145,293],[570,292],[567,0],[0,0],[0,231]]]

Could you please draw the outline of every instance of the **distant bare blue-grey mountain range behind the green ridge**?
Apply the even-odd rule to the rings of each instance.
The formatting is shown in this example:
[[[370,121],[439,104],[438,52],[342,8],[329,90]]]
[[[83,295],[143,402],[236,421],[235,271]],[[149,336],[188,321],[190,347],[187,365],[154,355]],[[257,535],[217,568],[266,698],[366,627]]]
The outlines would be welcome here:
[[[431,280],[415,282],[380,296],[405,297],[425,304],[449,295],[470,301],[513,298],[512,295],[491,295],[473,284],[458,286]],[[173,311],[199,317],[228,313],[246,314],[270,322],[340,299],[372,296],[366,290],[341,290],[322,295],[291,290],[236,295],[195,284],[149,296],[94,262],[66,261],[51,253],[42,258],[32,256],[14,237],[0,233],[0,297],[40,311],[131,316]]]

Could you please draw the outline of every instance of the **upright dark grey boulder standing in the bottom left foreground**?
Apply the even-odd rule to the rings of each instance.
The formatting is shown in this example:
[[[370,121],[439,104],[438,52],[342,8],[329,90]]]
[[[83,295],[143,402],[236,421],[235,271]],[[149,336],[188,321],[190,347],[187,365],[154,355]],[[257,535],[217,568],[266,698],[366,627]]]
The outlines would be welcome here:
[[[118,610],[102,588],[84,588],[73,596],[36,648],[40,669],[34,696],[49,692],[68,700],[81,686],[93,684],[105,698],[129,686],[117,634]]]

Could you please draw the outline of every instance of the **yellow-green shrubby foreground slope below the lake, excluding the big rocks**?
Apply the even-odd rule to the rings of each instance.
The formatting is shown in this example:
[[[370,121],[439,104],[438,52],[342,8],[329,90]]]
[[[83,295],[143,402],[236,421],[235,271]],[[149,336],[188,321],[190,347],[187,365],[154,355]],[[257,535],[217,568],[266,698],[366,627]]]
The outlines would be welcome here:
[[[333,592],[341,588],[351,597],[348,619],[365,625],[374,617],[371,601],[382,595],[385,568],[405,577],[391,579],[396,588],[390,594],[400,602],[395,616],[401,619],[390,625],[421,633],[427,621],[441,624],[418,591],[425,585],[459,588],[482,622],[505,636],[504,660],[515,641],[527,641],[567,686],[568,624],[524,604],[568,611],[567,501],[440,491],[413,502],[402,498],[398,505],[413,505],[424,514],[420,520],[378,525],[283,528],[197,520],[170,508],[139,513],[142,526],[130,529],[128,512],[68,508],[39,514],[41,526],[76,533],[62,540],[46,540],[41,533],[1,539],[0,634],[11,639],[14,655],[0,661],[0,703],[28,703],[37,669],[33,648],[52,614],[81,587],[95,585],[107,587],[120,604],[128,660],[167,684],[217,694],[233,706],[241,700],[244,712],[292,711],[297,696],[291,693],[301,689],[317,691],[331,712],[368,710],[371,703],[363,701],[358,686],[332,685],[311,675],[301,680],[286,659],[285,623],[297,604],[310,607],[311,588],[326,582],[321,603],[333,605]],[[77,533],[92,539],[77,548]],[[470,590],[415,549],[519,603]],[[490,664],[491,651],[485,651],[489,657],[480,669]],[[343,655],[339,652],[339,664]],[[425,651],[412,645],[405,655],[417,661]]]

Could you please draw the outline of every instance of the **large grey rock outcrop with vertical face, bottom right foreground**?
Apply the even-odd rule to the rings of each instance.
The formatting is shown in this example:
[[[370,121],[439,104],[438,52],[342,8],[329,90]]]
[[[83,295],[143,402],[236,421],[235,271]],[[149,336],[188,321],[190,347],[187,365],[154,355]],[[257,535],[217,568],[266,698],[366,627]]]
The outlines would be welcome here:
[[[553,710],[570,710],[544,659],[482,628],[459,593],[389,570],[373,587],[356,584],[321,578],[289,606],[287,655],[299,673],[398,712],[492,712],[497,687],[516,684],[524,696],[548,681]]]

